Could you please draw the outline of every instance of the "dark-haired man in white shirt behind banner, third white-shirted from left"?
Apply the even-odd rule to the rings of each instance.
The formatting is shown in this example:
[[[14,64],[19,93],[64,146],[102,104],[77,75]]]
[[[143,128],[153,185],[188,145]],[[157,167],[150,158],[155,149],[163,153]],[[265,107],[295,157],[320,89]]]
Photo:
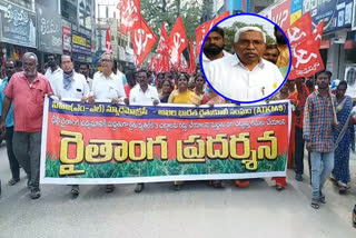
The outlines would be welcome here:
[[[140,70],[137,76],[137,82],[130,91],[130,105],[156,106],[159,101],[157,89],[148,85],[149,73]],[[137,184],[135,191],[141,192],[145,188],[142,182]]]

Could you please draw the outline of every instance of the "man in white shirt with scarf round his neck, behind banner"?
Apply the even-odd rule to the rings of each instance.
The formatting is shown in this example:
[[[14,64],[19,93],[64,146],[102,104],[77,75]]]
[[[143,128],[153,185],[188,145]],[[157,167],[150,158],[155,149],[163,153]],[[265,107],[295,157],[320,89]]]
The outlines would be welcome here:
[[[83,75],[73,70],[73,62],[70,56],[63,54],[61,58],[61,79],[53,80],[51,87],[53,95],[63,98],[75,98],[86,100],[89,96],[89,86]],[[59,73],[58,73],[59,75]]]

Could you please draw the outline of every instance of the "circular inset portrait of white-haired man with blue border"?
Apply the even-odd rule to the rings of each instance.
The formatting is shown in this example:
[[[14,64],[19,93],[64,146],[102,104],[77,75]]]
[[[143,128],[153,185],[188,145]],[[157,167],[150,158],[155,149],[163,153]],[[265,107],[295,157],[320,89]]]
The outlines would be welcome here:
[[[200,66],[210,88],[240,103],[274,96],[286,81],[290,65],[290,46],[283,30],[254,13],[218,22],[200,50]]]

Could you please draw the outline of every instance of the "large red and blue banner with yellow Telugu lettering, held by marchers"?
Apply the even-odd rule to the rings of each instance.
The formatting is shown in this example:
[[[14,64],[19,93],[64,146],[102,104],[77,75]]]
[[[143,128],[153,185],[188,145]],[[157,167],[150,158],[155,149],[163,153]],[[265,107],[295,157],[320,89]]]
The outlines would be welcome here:
[[[42,184],[283,177],[288,101],[238,107],[46,99]]]

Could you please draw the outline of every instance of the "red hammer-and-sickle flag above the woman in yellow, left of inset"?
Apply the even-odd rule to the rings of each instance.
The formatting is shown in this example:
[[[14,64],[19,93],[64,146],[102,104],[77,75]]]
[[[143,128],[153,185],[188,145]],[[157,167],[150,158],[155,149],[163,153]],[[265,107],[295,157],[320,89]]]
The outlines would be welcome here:
[[[176,63],[179,60],[179,54],[188,47],[185,26],[182,24],[180,16],[170,31],[167,44],[170,52],[170,59]]]

